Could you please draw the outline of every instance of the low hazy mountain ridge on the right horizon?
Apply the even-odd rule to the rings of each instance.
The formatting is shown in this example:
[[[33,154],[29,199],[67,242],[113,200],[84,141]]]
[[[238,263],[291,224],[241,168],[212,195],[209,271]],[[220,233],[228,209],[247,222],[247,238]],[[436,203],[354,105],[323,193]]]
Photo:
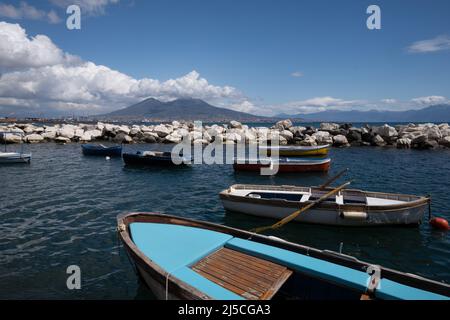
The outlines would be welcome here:
[[[450,122],[450,104],[429,106],[407,111],[339,111],[328,110],[308,114],[277,115],[277,118],[301,119],[302,121],[335,122]]]

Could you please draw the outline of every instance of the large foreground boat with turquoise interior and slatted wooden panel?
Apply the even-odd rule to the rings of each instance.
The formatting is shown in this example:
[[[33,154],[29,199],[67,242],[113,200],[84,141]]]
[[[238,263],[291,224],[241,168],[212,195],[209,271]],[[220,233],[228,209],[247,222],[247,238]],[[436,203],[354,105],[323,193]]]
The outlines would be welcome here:
[[[155,213],[117,223],[159,299],[450,299],[447,284],[275,237]]]

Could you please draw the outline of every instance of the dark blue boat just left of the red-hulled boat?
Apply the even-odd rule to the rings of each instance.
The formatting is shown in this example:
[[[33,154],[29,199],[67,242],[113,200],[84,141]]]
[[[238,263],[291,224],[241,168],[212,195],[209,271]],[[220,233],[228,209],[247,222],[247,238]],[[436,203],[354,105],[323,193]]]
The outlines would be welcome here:
[[[125,165],[128,166],[175,166],[185,165],[190,162],[189,157],[178,156],[172,158],[170,152],[138,151],[136,153],[124,153],[122,155]]]

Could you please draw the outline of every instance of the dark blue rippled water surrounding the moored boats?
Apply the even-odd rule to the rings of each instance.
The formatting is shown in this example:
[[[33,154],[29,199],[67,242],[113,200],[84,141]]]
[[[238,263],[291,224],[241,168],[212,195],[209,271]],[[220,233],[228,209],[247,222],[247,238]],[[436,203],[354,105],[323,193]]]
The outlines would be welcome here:
[[[170,148],[133,145],[128,150]],[[327,174],[264,177],[229,165],[127,169],[121,159],[84,157],[77,144],[28,147],[31,165],[0,167],[0,299],[149,298],[115,232],[116,215],[159,211],[239,228],[266,225],[225,213],[218,193],[234,183],[317,185],[349,167],[353,187],[428,194],[450,219],[450,152],[383,148],[333,149]],[[419,228],[337,228],[290,224],[276,236],[338,250],[401,271],[450,282],[449,233]],[[66,287],[66,268],[81,267],[82,289]]]

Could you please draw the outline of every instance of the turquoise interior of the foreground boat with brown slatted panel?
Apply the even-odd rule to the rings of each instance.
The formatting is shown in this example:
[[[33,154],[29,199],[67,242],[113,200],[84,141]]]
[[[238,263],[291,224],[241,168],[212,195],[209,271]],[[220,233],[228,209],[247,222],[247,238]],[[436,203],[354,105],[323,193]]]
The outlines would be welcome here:
[[[371,275],[365,270],[186,225],[132,222],[129,233],[142,254],[165,270],[166,281],[182,281],[213,299],[369,298]],[[386,278],[379,281],[370,298],[442,298]]]

